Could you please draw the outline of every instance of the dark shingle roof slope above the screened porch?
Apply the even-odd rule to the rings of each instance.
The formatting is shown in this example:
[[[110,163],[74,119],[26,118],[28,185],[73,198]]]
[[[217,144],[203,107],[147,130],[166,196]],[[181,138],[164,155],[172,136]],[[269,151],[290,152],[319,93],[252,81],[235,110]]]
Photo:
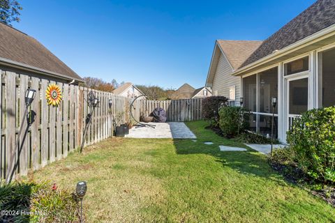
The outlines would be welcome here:
[[[317,33],[335,24],[334,10],[334,0],[316,1],[313,5],[304,10],[304,12],[300,13],[297,17],[288,22],[288,24],[285,24],[285,26],[267,38],[267,40],[246,59],[240,68],[262,59],[275,50],[283,49],[288,45],[292,45],[307,36],[311,36],[313,33]]]

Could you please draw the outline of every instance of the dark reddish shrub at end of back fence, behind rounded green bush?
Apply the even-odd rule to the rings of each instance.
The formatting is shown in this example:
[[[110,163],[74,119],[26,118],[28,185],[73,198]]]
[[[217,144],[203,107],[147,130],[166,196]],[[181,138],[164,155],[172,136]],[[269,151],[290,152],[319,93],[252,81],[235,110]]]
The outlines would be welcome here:
[[[211,96],[202,100],[202,117],[211,123],[211,127],[218,127],[218,109],[228,106],[228,98]]]

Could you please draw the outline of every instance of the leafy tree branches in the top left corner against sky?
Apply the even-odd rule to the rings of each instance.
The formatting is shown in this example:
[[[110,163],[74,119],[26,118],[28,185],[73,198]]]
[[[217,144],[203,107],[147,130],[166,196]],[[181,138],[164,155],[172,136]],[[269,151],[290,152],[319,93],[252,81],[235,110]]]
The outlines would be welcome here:
[[[0,22],[12,26],[10,23],[20,22],[20,3],[15,0],[0,0]]]

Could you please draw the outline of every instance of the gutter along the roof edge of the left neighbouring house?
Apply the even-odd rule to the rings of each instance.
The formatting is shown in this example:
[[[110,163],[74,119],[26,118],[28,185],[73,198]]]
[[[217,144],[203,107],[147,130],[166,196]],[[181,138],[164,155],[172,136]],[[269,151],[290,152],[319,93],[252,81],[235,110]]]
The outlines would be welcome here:
[[[30,66],[30,65],[27,65],[25,63],[20,63],[20,62],[17,62],[17,61],[12,61],[10,59],[6,59],[6,58],[3,58],[3,57],[0,57],[0,64],[1,65],[4,65],[4,66],[10,66],[12,68],[19,68],[21,70],[27,70],[27,71],[30,71],[30,72],[37,72],[38,74],[41,74],[41,75],[47,75],[49,77],[59,77],[61,79],[67,79],[67,80],[70,80],[72,81],[73,79],[77,82],[81,82],[83,83],[84,80],[83,79],[77,79],[77,78],[74,78],[74,77],[68,77],[67,75],[62,75],[58,72],[52,72],[50,70],[44,70],[42,68],[37,68],[35,66]]]

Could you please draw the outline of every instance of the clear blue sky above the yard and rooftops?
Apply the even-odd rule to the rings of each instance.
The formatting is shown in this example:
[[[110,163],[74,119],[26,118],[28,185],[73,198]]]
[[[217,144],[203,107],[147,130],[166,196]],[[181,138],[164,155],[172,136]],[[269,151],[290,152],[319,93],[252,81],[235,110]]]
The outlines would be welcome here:
[[[13,26],[82,77],[198,88],[216,39],[264,40],[314,1],[20,2]]]

